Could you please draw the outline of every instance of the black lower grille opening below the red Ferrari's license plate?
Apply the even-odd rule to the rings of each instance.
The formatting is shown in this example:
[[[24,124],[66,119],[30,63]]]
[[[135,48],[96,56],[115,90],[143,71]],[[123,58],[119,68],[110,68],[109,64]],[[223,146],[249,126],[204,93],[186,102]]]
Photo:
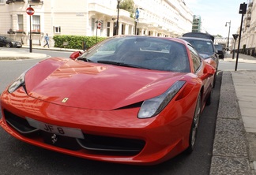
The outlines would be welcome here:
[[[44,132],[28,124],[24,118],[4,110],[7,124],[30,139],[43,139],[44,143],[63,147],[73,151],[89,151],[90,154],[104,155],[137,155],[145,146],[144,140],[127,139],[111,136],[98,136],[84,133],[85,139],[76,139],[67,136],[57,136]],[[52,136],[56,137],[56,142]]]

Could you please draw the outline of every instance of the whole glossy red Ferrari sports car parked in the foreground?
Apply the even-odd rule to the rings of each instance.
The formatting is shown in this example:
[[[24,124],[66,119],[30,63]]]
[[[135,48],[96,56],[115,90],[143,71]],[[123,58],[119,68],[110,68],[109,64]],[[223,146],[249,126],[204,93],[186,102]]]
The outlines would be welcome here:
[[[193,151],[215,69],[190,43],[116,36],[71,58],[40,61],[2,92],[6,132],[106,162],[152,165]]]

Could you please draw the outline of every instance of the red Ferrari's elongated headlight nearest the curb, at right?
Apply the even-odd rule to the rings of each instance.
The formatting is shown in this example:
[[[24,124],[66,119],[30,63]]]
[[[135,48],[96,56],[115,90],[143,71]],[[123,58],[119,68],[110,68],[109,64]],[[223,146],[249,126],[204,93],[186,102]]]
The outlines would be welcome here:
[[[168,105],[171,99],[178,93],[185,83],[186,81],[177,81],[170,88],[168,88],[164,94],[145,100],[141,105],[141,109],[137,114],[137,117],[149,118],[159,114],[162,110],[164,110],[164,107]]]

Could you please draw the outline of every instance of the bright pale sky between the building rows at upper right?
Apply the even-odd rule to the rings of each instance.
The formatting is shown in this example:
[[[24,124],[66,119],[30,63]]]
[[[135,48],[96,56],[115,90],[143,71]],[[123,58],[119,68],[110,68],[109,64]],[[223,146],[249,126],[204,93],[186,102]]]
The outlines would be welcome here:
[[[203,30],[223,37],[228,37],[230,21],[230,37],[240,29],[242,14],[239,8],[243,2],[248,4],[248,0],[185,0],[192,13],[201,16]]]

